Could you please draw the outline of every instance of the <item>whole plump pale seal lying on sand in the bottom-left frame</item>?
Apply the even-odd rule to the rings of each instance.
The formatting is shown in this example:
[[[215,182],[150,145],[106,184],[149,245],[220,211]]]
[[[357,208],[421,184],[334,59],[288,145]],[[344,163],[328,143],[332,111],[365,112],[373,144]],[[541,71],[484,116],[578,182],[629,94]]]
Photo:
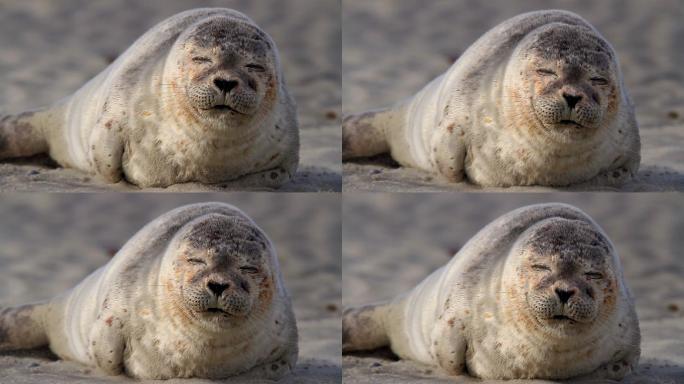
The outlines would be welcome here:
[[[298,353],[275,249],[223,203],[170,211],[70,291],[0,310],[0,351],[44,345],[140,379],[277,379]]]

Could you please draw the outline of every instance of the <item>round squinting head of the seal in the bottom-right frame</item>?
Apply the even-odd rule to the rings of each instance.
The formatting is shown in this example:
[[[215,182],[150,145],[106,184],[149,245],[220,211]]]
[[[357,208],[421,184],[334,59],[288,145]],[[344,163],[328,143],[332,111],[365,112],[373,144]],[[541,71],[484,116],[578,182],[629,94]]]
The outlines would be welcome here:
[[[590,223],[544,220],[527,230],[503,274],[504,298],[526,333],[579,339],[617,314],[618,277],[609,240]]]

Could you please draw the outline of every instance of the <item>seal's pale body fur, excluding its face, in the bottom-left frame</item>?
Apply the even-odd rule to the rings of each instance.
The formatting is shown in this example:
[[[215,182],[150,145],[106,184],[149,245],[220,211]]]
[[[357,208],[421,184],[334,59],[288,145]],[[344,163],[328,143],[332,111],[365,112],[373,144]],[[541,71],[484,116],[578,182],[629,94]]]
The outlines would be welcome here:
[[[177,257],[173,246],[179,234],[207,218],[239,221],[261,233],[273,281],[267,307],[218,330],[183,317],[161,284]],[[278,379],[294,368],[298,354],[296,322],[275,250],[249,217],[223,203],[170,211],[73,289],[44,303],[0,311],[0,350],[43,345],[60,358],[145,379]]]

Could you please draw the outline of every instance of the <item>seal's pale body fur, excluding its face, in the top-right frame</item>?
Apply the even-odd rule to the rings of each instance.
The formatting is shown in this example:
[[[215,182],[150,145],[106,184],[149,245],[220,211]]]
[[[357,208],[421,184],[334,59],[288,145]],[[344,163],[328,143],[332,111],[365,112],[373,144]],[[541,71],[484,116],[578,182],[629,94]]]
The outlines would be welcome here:
[[[611,58],[615,92],[602,100],[610,104],[609,113],[581,140],[559,140],[545,131],[525,93],[531,85],[518,58],[528,57],[530,41],[549,30],[599,41]],[[390,153],[404,166],[482,186],[619,186],[636,174],[639,151],[634,109],[615,53],[587,21],[556,10],[501,23],[413,97],[343,122],[346,160]]]

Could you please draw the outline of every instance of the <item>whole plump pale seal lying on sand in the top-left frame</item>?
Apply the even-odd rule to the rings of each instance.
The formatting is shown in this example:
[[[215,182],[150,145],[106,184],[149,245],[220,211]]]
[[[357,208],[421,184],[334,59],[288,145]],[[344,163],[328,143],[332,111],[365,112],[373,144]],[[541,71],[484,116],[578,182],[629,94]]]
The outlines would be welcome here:
[[[247,16],[206,8],[145,33],[72,96],[0,116],[0,159],[60,165],[140,187],[278,187],[299,133],[275,43]]]

